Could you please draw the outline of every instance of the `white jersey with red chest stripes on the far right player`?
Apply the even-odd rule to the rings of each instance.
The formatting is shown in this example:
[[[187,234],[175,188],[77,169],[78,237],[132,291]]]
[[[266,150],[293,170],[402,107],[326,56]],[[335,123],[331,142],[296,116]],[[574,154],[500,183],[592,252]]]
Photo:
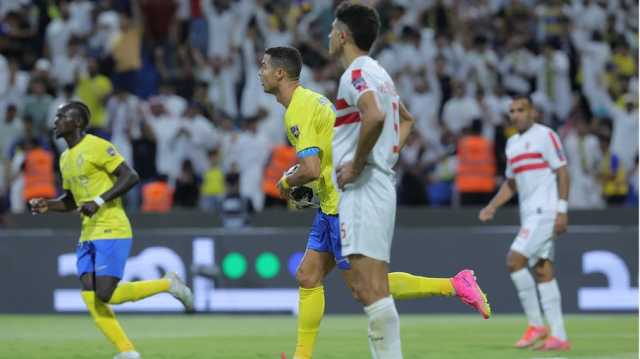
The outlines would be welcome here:
[[[515,178],[524,221],[536,214],[555,215],[558,186],[555,170],[567,160],[558,135],[549,127],[534,124],[507,141],[507,178]]]

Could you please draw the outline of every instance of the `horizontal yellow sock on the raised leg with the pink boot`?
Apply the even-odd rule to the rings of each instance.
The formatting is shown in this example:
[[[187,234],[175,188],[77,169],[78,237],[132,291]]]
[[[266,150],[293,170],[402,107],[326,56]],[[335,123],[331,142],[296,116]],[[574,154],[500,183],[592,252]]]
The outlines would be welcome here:
[[[415,299],[455,294],[449,278],[429,278],[409,273],[389,273],[389,291],[394,299]]]

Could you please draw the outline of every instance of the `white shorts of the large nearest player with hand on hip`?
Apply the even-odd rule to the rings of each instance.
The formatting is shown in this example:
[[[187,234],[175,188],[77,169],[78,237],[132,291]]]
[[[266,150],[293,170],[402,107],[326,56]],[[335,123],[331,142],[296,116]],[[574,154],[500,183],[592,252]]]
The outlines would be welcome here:
[[[389,263],[396,222],[394,178],[371,166],[340,193],[342,255],[361,254]]]

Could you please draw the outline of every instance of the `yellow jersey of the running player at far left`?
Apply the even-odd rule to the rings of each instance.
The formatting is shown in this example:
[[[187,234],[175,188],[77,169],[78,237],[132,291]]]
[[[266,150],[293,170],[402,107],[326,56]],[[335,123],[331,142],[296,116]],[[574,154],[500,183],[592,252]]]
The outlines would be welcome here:
[[[85,135],[60,156],[62,188],[73,194],[78,206],[93,201],[113,187],[116,176],[112,173],[123,162],[124,158],[111,142]],[[132,236],[131,224],[120,198],[103,204],[92,217],[82,216],[80,242]]]

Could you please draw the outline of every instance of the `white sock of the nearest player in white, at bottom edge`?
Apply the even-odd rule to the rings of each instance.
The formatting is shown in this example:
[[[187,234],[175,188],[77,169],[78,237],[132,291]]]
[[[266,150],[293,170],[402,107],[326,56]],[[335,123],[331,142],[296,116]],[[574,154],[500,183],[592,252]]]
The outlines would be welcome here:
[[[400,317],[391,296],[364,307],[369,318],[369,348],[373,359],[402,359]]]

